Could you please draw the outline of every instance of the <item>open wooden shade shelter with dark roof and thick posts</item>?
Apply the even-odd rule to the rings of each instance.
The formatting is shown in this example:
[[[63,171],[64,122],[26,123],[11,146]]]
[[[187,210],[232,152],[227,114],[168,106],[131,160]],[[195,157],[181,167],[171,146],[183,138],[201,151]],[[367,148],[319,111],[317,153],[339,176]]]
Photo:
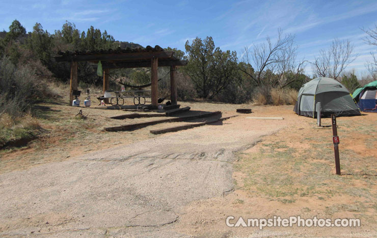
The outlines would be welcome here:
[[[66,51],[58,52],[57,62],[71,63],[70,76],[70,105],[74,99],[73,90],[77,90],[77,62],[98,64],[100,61],[103,70],[103,93],[109,89],[109,75],[111,69],[121,68],[151,68],[151,98],[152,106],[158,105],[158,76],[157,67],[170,67],[170,93],[172,104],[177,104],[177,83],[175,74],[178,66],[187,65],[187,61],[180,61],[174,57],[174,51],[165,51],[156,45],[146,48],[118,48],[95,51]]]

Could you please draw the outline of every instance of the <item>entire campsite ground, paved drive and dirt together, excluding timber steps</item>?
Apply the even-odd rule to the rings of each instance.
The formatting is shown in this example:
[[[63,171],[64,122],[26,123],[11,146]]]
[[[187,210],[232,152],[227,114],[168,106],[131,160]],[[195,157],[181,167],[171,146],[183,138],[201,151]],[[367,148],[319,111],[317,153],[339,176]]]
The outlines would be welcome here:
[[[342,175],[331,128],[293,106],[182,102],[237,115],[220,124],[153,135],[106,126],[132,113],[64,103],[40,105],[46,132],[0,152],[0,234],[5,237],[372,237],[377,236],[377,113],[339,117]],[[237,114],[249,107],[251,114]],[[284,120],[252,120],[279,116]],[[159,117],[160,118],[160,117]],[[324,125],[330,125],[325,118]],[[361,227],[227,227],[227,216],[360,218]]]

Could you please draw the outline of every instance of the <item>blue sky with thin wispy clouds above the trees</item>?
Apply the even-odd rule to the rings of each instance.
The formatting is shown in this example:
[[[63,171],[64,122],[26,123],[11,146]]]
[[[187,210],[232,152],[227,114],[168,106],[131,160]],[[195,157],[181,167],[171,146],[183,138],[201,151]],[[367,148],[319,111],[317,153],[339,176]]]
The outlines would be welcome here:
[[[81,31],[91,25],[116,40],[184,51],[186,40],[211,36],[216,46],[235,50],[283,33],[295,35],[299,58],[312,61],[334,38],[349,39],[358,58],[347,68],[366,73],[376,49],[362,40],[361,27],[377,23],[377,1],[2,1],[0,30],[17,19],[32,31],[36,22],[53,33],[66,20]],[[311,74],[311,67],[306,67]]]

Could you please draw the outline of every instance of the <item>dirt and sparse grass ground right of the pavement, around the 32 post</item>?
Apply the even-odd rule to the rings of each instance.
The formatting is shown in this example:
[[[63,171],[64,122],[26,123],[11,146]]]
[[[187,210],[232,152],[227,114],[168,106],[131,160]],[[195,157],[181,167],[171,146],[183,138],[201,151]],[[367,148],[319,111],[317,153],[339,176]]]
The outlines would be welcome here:
[[[331,127],[317,128],[312,118],[292,117],[289,107],[266,109],[274,115],[274,109],[280,110],[289,125],[237,153],[235,191],[187,206],[179,229],[200,237],[376,237],[377,115],[337,118],[342,174],[338,176]],[[330,118],[322,125],[331,125]],[[228,216],[359,218],[361,227],[229,228]]]

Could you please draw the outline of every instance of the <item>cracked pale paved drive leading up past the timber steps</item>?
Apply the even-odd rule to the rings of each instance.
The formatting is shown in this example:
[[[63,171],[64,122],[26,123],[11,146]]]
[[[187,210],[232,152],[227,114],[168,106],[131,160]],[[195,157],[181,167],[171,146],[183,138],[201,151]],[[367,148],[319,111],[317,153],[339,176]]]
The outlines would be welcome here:
[[[183,207],[230,193],[234,153],[285,126],[242,115],[1,174],[0,236],[192,237]]]

